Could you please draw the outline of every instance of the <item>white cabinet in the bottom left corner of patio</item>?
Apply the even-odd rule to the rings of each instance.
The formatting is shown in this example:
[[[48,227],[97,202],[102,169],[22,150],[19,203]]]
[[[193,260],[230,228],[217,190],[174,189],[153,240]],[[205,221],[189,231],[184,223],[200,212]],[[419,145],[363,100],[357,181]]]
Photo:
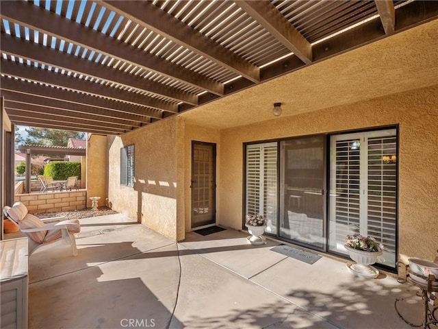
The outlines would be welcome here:
[[[27,328],[27,238],[0,241],[0,328]]]

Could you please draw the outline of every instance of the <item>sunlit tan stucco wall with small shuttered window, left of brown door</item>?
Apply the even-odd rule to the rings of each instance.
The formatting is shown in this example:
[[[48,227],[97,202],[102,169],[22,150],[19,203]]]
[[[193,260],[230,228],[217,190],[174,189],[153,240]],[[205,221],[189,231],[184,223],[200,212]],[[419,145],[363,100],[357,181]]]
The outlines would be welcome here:
[[[109,153],[112,208],[175,240],[183,239],[183,221],[182,229],[177,225],[178,122],[170,118],[116,137]],[[135,145],[133,188],[120,185],[120,148],[127,145]]]

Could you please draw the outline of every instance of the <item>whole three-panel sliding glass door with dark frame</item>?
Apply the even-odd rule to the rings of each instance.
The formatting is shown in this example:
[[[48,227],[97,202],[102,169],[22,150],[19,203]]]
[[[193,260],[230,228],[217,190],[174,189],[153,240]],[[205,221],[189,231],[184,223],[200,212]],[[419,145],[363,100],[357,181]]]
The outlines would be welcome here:
[[[268,234],[336,254],[348,254],[347,234],[374,236],[395,268],[396,150],[396,129],[246,145],[246,214],[264,215]]]

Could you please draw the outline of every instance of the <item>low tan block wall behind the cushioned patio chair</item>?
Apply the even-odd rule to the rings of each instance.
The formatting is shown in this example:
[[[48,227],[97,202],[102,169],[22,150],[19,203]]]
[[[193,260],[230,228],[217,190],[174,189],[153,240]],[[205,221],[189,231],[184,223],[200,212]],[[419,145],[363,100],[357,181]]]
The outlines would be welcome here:
[[[15,195],[30,213],[80,210],[86,208],[87,190],[46,192]]]

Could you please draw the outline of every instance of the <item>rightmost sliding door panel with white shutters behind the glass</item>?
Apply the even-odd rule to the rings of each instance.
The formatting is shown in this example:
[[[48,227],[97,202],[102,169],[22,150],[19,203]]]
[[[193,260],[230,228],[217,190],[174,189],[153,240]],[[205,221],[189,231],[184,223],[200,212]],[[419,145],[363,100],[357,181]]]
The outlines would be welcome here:
[[[331,136],[329,249],[347,254],[346,234],[374,236],[380,263],[396,266],[396,130]]]

